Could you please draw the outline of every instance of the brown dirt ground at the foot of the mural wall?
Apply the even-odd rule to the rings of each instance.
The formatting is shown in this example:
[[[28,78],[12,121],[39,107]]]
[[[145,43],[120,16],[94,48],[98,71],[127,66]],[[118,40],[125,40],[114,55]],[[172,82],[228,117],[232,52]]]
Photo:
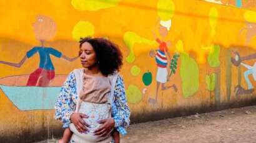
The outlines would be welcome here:
[[[256,106],[132,124],[128,132],[121,142],[256,143]]]

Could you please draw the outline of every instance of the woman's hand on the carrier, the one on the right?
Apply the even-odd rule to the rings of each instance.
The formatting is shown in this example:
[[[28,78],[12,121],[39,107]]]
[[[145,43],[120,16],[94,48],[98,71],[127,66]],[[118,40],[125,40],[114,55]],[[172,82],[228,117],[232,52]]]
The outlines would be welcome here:
[[[100,137],[107,136],[107,134],[109,134],[109,132],[111,132],[111,130],[114,129],[115,126],[115,120],[112,118],[103,119],[99,121],[99,123],[102,125],[99,126],[98,129],[96,129],[94,134]]]

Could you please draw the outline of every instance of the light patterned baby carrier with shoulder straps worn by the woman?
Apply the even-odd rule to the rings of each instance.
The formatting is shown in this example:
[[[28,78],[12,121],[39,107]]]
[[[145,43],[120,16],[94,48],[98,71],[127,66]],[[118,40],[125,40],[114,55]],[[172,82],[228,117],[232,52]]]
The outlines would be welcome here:
[[[76,76],[76,90],[77,94],[79,95],[80,91],[82,90],[83,70],[76,69],[74,70],[74,73]],[[108,78],[111,80],[111,93],[108,94],[109,96],[107,97],[107,103],[90,103],[78,99],[76,104],[76,113],[83,113],[89,116],[89,118],[84,119],[84,121],[89,124],[89,127],[87,127],[89,131],[86,133],[80,133],[77,131],[74,124],[71,123],[69,127],[73,132],[71,137],[72,141],[75,141],[76,143],[105,143],[112,141],[111,132],[109,132],[106,137],[99,137],[94,135],[94,131],[101,126],[101,124],[99,124],[97,121],[111,117],[111,104],[114,102],[114,88],[116,86],[117,75],[117,73],[114,73],[113,75],[108,76]]]

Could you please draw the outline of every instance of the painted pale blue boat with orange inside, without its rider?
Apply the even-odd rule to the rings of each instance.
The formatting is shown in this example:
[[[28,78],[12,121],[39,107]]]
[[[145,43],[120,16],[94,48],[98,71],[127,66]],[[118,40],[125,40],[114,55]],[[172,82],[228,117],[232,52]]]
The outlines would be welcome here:
[[[26,86],[29,75],[0,78],[4,95],[20,110],[54,109],[61,85],[67,75],[56,75],[47,87]]]

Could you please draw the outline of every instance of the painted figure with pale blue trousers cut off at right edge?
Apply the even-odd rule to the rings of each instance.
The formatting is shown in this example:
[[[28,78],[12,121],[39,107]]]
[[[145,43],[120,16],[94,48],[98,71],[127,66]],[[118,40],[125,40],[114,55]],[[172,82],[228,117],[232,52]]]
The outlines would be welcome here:
[[[233,65],[238,67],[239,65],[243,65],[247,70],[244,72],[244,78],[247,83],[247,90],[242,88],[242,86],[237,85],[235,87],[235,94],[236,95],[244,95],[244,94],[250,94],[254,92],[254,86],[252,85],[251,81],[249,80],[249,75],[252,75],[254,77],[254,80],[256,81],[256,62],[254,65],[247,65],[245,63],[242,63],[245,60],[254,60],[256,59],[256,53],[252,55],[247,55],[244,57],[240,57],[239,53],[237,51],[232,51],[235,54],[235,58],[231,58],[231,62]]]

